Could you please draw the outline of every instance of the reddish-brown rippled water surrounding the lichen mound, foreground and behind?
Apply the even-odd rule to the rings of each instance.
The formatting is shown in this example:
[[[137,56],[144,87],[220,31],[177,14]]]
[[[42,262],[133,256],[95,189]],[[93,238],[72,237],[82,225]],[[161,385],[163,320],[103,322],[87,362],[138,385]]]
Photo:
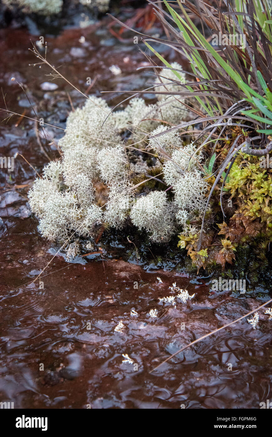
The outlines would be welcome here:
[[[84,44],[79,42],[82,35]],[[44,73],[49,70],[28,66],[34,62],[27,50],[29,38],[37,37],[13,29],[2,30],[0,38],[7,107],[35,117],[23,91],[9,82],[15,76],[27,88],[39,117],[65,128],[71,111],[66,91],[74,106],[82,104],[80,95],[58,79],[58,90],[44,96],[40,84],[48,80]],[[88,76],[97,76],[91,91],[97,95],[99,90],[143,88],[148,77],[135,73],[144,59],[132,42],[112,40],[101,23],[47,40],[48,59],[62,64],[61,73],[81,90],[88,87]],[[164,54],[173,59],[172,52]],[[112,65],[122,74],[112,75]],[[109,104],[120,101],[116,93],[106,98]],[[21,153],[41,171],[48,161],[33,122],[14,116],[5,123],[0,125],[1,156]],[[54,138],[62,135],[57,128],[48,130]],[[44,142],[44,149],[51,159],[58,157],[54,146]],[[15,160],[14,172],[1,174],[0,401],[14,402],[14,408],[256,409],[272,399],[272,322],[263,310],[258,329],[243,319],[150,373],[187,343],[257,308],[259,299],[209,294],[208,278],[142,268],[117,260],[114,252],[82,264],[58,255],[41,274],[44,288],[33,283],[54,253],[38,235],[27,206],[34,177],[21,158]],[[160,303],[159,297],[176,294],[169,290],[173,282],[195,297],[176,308]],[[156,319],[148,315],[151,309],[157,310]],[[116,332],[120,321],[124,328]],[[133,363],[123,363],[122,354]]]

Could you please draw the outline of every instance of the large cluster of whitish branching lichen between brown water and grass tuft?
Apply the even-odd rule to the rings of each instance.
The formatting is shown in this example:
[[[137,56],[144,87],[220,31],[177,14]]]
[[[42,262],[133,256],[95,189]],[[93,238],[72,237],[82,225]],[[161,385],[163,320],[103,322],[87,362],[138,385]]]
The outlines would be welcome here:
[[[178,64],[174,68],[181,69]],[[168,78],[168,88],[182,89],[173,84],[171,70],[161,73]],[[179,132],[170,130],[170,118],[162,119],[164,100],[163,96],[146,105],[133,98],[125,109],[110,114],[107,103],[92,96],[69,114],[58,142],[61,160],[44,167],[43,178],[35,180],[28,194],[42,236],[57,242],[71,235],[94,241],[99,227],[132,224],[151,241],[163,243],[181,227],[188,232],[190,221],[199,221],[206,205],[207,184],[200,165],[204,156],[197,152],[190,161],[198,146],[184,145]],[[183,117],[179,111],[179,121]],[[150,154],[153,158],[147,163]],[[163,184],[150,189],[133,181],[148,180],[151,170],[166,191],[160,191]]]

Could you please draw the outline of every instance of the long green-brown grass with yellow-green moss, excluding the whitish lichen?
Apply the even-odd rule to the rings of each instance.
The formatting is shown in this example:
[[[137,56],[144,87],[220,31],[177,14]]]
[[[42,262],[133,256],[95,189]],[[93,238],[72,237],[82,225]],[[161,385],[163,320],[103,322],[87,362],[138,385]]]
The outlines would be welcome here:
[[[200,163],[208,196],[198,208],[201,228],[199,222],[188,220],[194,228],[184,226],[179,243],[199,270],[215,264],[224,268],[235,260],[238,244],[254,245],[264,236],[266,241],[271,238],[272,176],[269,166],[260,165],[259,158],[269,156],[272,150],[269,137],[272,133],[272,21],[271,4],[265,0],[243,0],[236,2],[235,8],[228,0],[219,8],[209,2],[197,0],[196,3],[197,6],[190,2],[172,4],[164,0],[166,10],[162,14],[157,8],[157,16],[173,36],[173,46],[183,52],[192,67],[187,72],[194,78],[190,83],[184,83],[184,71],[176,69],[172,86],[183,83],[180,96],[190,101],[195,97],[191,111],[198,117],[190,120],[191,126],[204,123],[199,135],[201,146],[197,142],[193,144],[195,153],[206,156],[206,162],[200,160]],[[201,22],[202,32],[197,21]],[[224,35],[227,43],[223,37],[219,42],[219,35]],[[243,37],[242,45],[237,43],[239,35]],[[214,41],[218,47],[213,46]],[[167,60],[145,38],[144,43],[169,68]],[[174,92],[173,88],[169,98],[177,97]],[[180,132],[188,125],[177,122],[169,133],[160,135],[167,136],[177,129]],[[194,166],[195,153],[192,151],[186,162],[186,177]],[[176,163],[180,159],[181,164],[182,151],[172,157]],[[169,177],[167,182],[175,190],[172,163],[163,166]],[[182,173],[182,165],[179,170],[176,166],[175,173],[177,184],[182,186],[186,178],[182,179],[181,175],[179,178],[178,173]],[[192,187],[197,199],[201,188],[194,187],[193,181]],[[187,215],[183,214],[180,223],[186,222]],[[267,243],[264,244],[267,250]]]

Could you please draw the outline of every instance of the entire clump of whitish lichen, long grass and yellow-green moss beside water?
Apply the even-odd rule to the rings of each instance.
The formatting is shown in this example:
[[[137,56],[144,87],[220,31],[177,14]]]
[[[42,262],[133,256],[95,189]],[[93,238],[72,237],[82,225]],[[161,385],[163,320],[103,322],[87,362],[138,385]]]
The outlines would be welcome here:
[[[134,97],[124,110],[111,111],[91,97],[69,115],[61,162],[49,164],[29,194],[39,229],[58,241],[94,240],[99,226],[123,232],[136,226],[156,243],[178,236],[198,271],[224,269],[248,245],[260,244],[266,262],[272,175],[260,158],[272,150],[271,7],[265,0],[242,0],[236,9],[228,0],[219,9],[201,0],[197,7],[164,5],[162,14],[153,4],[173,37],[167,44],[187,57],[191,70],[167,62],[143,35],[164,64],[150,65],[156,103]],[[220,51],[212,32],[239,33],[244,43]],[[48,202],[58,205],[54,217]]]

